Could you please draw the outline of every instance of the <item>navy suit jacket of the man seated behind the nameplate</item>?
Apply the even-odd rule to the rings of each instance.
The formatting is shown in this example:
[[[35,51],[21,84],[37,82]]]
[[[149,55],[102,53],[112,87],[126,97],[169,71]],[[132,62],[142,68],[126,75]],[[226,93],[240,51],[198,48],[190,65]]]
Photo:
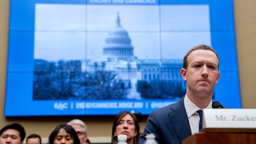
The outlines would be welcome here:
[[[188,116],[184,106],[184,97],[175,104],[152,111],[147,119],[140,144],[148,133],[156,135],[158,144],[181,144],[191,135]]]

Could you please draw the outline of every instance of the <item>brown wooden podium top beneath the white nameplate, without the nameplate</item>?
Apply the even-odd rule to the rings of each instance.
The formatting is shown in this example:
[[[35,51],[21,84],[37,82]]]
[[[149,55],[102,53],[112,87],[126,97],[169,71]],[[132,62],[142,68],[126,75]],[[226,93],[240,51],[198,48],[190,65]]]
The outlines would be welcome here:
[[[199,132],[182,144],[255,144],[256,132]]]

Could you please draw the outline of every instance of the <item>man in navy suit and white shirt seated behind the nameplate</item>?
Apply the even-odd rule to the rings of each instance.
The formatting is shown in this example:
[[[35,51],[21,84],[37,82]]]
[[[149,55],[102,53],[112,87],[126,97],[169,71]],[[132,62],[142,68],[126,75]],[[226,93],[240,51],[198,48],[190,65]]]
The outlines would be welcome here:
[[[193,47],[184,56],[182,79],[186,95],[179,102],[152,111],[141,134],[140,144],[149,133],[156,135],[158,144],[181,144],[191,134],[199,132],[198,110],[212,108],[212,96],[220,78],[218,54],[208,45]]]

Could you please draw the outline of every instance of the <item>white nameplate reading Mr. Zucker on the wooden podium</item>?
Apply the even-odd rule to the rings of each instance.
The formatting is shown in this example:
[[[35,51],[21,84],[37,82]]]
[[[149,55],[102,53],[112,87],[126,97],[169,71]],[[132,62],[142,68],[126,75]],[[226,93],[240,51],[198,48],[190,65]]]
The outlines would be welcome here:
[[[256,109],[204,109],[205,132],[256,132]]]

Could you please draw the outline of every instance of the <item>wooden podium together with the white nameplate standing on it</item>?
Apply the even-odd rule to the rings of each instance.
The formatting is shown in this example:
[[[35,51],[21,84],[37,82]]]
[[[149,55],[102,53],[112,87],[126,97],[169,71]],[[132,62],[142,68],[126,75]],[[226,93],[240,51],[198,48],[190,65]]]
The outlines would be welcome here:
[[[256,144],[256,109],[203,109],[203,128],[182,144]]]

